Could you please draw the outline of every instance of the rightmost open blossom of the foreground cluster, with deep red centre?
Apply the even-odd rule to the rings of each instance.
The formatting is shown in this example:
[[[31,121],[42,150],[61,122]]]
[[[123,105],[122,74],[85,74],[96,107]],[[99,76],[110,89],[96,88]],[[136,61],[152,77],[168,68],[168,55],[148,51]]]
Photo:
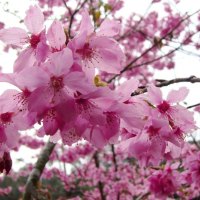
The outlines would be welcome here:
[[[193,113],[178,104],[186,98],[188,92],[185,87],[172,90],[165,100],[162,98],[161,90],[151,85],[147,93],[146,101],[153,107],[150,111],[151,115],[163,117],[169,121],[172,129],[171,142],[176,145],[181,145],[184,133],[189,133],[196,128]]]

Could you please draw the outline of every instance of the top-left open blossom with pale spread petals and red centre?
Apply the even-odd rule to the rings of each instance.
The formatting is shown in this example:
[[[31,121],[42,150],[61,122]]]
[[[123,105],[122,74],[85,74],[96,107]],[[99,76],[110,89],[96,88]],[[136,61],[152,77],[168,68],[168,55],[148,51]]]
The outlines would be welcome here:
[[[35,62],[44,61],[48,54],[42,11],[37,6],[30,6],[24,23],[31,34],[17,27],[0,30],[0,40],[4,43],[19,47],[28,45],[15,61],[15,72],[21,71],[25,66],[33,66]]]

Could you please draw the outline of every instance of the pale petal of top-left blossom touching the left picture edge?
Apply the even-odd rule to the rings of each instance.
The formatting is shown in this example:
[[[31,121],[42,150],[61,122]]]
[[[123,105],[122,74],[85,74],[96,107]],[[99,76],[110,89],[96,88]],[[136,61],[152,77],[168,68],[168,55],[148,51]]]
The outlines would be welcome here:
[[[28,41],[28,35],[26,31],[21,28],[1,29],[0,40],[6,44],[23,46]]]

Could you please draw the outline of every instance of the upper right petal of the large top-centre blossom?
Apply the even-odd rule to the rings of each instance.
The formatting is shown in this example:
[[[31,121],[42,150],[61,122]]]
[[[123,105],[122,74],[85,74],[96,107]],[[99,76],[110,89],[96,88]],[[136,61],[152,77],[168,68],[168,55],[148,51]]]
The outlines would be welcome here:
[[[119,34],[120,31],[120,23],[114,20],[106,19],[100,26],[99,32],[97,32],[97,36],[107,36],[113,37]]]

